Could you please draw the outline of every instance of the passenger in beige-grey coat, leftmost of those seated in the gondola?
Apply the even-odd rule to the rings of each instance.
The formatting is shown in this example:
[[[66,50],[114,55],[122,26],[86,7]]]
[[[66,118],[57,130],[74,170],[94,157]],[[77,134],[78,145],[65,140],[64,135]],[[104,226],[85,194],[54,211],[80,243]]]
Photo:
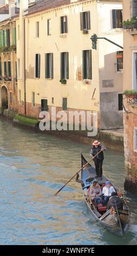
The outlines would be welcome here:
[[[102,203],[102,191],[99,183],[97,181],[93,181],[93,184],[89,188],[89,196],[92,199],[92,202],[96,204]]]

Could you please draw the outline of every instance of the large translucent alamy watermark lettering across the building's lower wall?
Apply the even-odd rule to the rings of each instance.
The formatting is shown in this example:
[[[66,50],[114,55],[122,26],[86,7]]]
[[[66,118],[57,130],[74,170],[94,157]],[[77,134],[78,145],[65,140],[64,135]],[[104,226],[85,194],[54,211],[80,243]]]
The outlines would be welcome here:
[[[87,131],[87,136],[97,135],[97,112],[96,111],[58,111],[51,107],[51,113],[42,111],[39,114],[40,130],[51,131]]]

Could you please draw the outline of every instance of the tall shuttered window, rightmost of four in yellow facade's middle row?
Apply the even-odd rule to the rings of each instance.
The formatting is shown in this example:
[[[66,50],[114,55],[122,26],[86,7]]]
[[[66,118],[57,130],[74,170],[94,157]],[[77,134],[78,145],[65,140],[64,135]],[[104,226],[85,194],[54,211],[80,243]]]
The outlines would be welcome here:
[[[83,79],[92,79],[92,50],[83,51]]]

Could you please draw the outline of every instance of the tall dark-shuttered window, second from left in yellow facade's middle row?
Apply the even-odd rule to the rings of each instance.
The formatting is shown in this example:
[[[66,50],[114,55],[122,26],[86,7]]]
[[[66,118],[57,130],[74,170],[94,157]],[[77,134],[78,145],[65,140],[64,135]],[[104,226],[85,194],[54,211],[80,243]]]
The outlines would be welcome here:
[[[53,79],[53,53],[45,53],[45,78]]]

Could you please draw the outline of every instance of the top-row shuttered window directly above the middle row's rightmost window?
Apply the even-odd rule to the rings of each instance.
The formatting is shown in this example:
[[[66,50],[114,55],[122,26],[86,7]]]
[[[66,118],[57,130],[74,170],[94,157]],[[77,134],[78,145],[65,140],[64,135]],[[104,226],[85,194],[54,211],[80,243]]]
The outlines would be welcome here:
[[[80,29],[90,29],[90,11],[80,13]]]

